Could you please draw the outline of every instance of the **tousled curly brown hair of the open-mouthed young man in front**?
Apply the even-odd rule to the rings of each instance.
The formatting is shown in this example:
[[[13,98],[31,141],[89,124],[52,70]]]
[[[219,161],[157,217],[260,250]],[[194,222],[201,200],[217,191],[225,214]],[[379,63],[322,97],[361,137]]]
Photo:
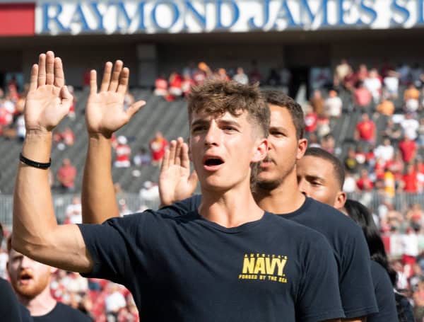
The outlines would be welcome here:
[[[261,134],[269,134],[269,108],[257,84],[244,85],[237,81],[206,81],[192,87],[188,98],[189,119],[193,113],[206,112],[213,115],[240,115],[246,111],[248,117],[261,129]]]

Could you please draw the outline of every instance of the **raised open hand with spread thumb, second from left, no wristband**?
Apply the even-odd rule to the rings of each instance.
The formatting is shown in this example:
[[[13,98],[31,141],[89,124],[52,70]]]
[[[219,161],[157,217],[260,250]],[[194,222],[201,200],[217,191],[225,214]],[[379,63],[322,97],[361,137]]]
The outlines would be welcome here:
[[[105,64],[99,93],[96,71],[94,69],[90,71],[90,96],[86,109],[88,134],[102,134],[105,137],[111,137],[113,132],[126,125],[131,117],[146,104],[143,100],[139,100],[124,110],[129,69],[122,67],[122,61],[117,60],[112,74],[112,62]]]

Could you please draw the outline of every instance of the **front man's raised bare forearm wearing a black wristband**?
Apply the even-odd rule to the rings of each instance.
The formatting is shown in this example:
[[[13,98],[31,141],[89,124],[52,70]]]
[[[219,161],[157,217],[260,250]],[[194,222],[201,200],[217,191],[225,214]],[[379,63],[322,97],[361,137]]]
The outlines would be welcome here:
[[[28,132],[22,154],[28,159],[49,162],[52,133]],[[57,227],[49,187],[49,171],[19,164],[13,197],[13,247],[28,250],[43,246],[49,231]]]

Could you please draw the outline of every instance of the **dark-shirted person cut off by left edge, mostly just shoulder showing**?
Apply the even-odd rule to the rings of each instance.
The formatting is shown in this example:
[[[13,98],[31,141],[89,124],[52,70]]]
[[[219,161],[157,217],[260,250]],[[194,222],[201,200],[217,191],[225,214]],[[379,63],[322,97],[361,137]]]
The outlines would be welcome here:
[[[3,241],[3,227],[0,224],[0,245]],[[8,281],[0,277],[0,316],[4,321],[33,321],[30,312],[16,299]]]

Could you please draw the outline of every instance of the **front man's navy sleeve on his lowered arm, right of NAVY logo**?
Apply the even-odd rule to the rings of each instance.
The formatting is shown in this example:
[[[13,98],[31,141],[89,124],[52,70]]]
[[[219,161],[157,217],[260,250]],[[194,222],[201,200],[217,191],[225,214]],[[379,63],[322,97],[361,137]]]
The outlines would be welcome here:
[[[298,291],[297,319],[316,322],[343,318],[337,265],[329,243],[324,236],[317,234],[306,247],[305,271]]]

